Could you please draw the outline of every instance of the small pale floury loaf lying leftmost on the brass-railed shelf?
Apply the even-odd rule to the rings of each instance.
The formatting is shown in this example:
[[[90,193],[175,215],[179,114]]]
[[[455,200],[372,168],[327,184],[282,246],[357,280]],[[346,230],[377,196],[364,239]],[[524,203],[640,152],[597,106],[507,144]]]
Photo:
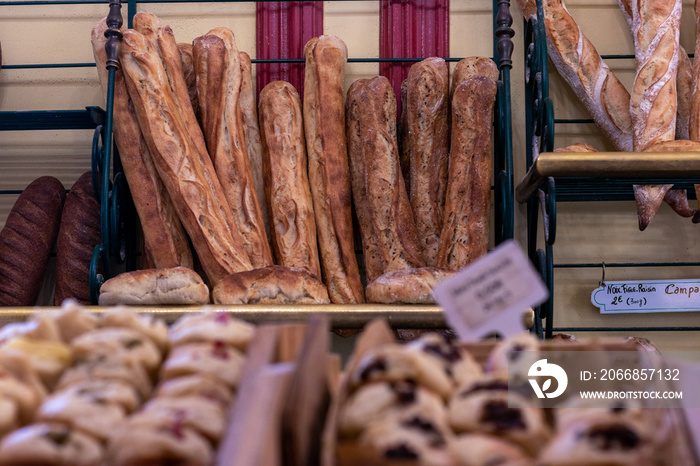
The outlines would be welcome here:
[[[100,305],[206,304],[209,289],[186,267],[126,272],[104,282]]]

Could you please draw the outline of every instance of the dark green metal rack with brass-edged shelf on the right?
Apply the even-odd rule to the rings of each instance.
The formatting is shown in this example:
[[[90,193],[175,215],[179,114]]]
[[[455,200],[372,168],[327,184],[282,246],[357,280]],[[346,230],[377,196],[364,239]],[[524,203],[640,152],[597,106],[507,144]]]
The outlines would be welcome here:
[[[674,184],[695,197],[700,182],[700,153],[553,153],[556,125],[593,123],[592,119],[555,119],[549,97],[547,37],[542,1],[537,16],[525,25],[525,110],[527,174],[515,190],[515,198],[527,204],[528,255],[550,291],[547,302],[536,309],[535,328],[541,337],[554,332],[697,331],[700,326],[596,326],[554,327],[554,271],[572,268],[691,267],[700,262],[600,262],[554,263],[558,202],[634,200],[633,184]],[[632,59],[634,55],[603,55],[603,59]],[[538,222],[542,214],[543,247],[538,246]],[[544,327],[543,327],[544,321]]]

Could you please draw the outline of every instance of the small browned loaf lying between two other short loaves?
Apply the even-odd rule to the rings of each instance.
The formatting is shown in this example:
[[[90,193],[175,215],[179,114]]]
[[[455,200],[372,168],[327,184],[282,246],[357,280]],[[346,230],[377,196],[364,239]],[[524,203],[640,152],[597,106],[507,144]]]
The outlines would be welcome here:
[[[306,269],[272,265],[231,274],[212,291],[215,304],[328,304],[328,291]]]

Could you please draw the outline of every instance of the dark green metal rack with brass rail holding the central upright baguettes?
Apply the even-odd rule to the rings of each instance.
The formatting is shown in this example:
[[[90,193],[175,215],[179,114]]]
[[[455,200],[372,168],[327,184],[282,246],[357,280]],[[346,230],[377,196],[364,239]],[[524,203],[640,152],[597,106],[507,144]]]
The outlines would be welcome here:
[[[199,0],[186,0],[187,3],[197,3]],[[215,0],[216,3],[255,3],[252,0]],[[268,0],[262,0],[268,1]],[[320,0],[311,0],[320,1]],[[341,0],[337,0],[341,1]],[[362,1],[362,0],[357,0]],[[382,0],[388,1],[388,0]],[[416,0],[418,1],[418,0]],[[427,0],[432,2],[435,0]],[[2,5],[43,5],[43,4],[104,4],[105,1],[97,0],[26,0],[26,1],[0,1]],[[183,3],[182,0],[129,0],[126,4],[126,24],[132,25],[133,17],[137,12],[139,4],[150,3]],[[421,0],[422,4],[426,0]],[[137,224],[136,214],[131,204],[128,187],[126,185],[119,154],[112,140],[112,101],[114,98],[114,76],[118,62],[118,47],[121,40],[119,31],[124,18],[122,16],[122,2],[120,0],[109,0],[109,15],[107,19],[108,31],[105,36],[108,38],[107,68],[108,68],[108,95],[106,110],[90,109],[90,112],[99,115],[100,119],[91,125],[86,125],[95,129],[93,139],[93,185],[96,198],[101,205],[102,216],[102,238],[101,243],[95,245],[92,264],[90,267],[90,292],[93,304],[97,303],[99,288],[104,280],[112,276],[117,263],[126,262],[126,270],[135,267],[135,258],[140,254],[139,248],[134,241],[135,225]],[[513,53],[512,37],[514,31],[511,28],[512,16],[510,14],[509,0],[493,1],[493,58],[499,66],[500,78],[498,81],[498,92],[496,98],[496,108],[494,116],[494,206],[495,206],[495,243],[513,237],[513,154],[512,154],[512,129],[511,129],[511,97],[510,97],[510,71],[512,68],[511,56]],[[392,57],[392,58],[350,58],[349,63],[410,63],[422,60],[423,57]],[[459,61],[460,58],[447,57],[448,62]],[[304,59],[253,59],[254,64],[262,63],[304,63]],[[94,63],[60,63],[53,65],[16,65],[14,67],[89,67]],[[6,66],[11,69],[12,66]],[[82,111],[76,111],[81,114]],[[0,129],[6,129],[3,124],[10,121],[17,122],[13,115],[3,115],[0,112]],[[12,112],[16,113],[16,112]],[[49,112],[52,115],[61,112]],[[59,118],[59,117],[57,117]],[[84,117],[83,117],[84,119]],[[27,115],[27,126],[31,127],[35,122],[34,115]],[[82,121],[82,120],[81,120]],[[92,121],[92,120],[90,120]],[[2,123],[8,122],[8,123]],[[65,124],[65,123],[64,123]],[[16,126],[7,129],[17,129]],[[33,128],[29,128],[33,129]],[[14,192],[13,193],[17,193]],[[3,194],[3,192],[0,192]],[[358,251],[361,252],[361,251]],[[95,308],[98,309],[98,308]],[[201,309],[201,308],[200,308]],[[150,309],[153,311],[153,309]],[[366,322],[371,317],[382,315],[390,318],[390,321],[397,325],[408,327],[444,327],[444,318],[440,308],[436,306],[316,306],[312,310],[316,312],[333,313],[334,323],[350,328],[357,325],[357,322]],[[240,309],[230,309],[230,312],[241,314],[242,316],[252,316],[251,320],[264,321],[268,318],[279,320],[294,320],[296,317],[304,316],[306,311],[298,311],[296,307],[284,308],[258,308],[250,306]],[[19,317],[26,315],[29,309],[18,308],[14,310]],[[160,312],[160,310],[158,310]],[[164,313],[181,313],[182,309],[164,307]],[[9,318],[13,310],[3,311],[0,319]],[[271,317],[270,317],[271,316]],[[296,316],[296,317],[295,317]],[[359,317],[358,317],[359,316]],[[245,317],[244,317],[245,318]]]

